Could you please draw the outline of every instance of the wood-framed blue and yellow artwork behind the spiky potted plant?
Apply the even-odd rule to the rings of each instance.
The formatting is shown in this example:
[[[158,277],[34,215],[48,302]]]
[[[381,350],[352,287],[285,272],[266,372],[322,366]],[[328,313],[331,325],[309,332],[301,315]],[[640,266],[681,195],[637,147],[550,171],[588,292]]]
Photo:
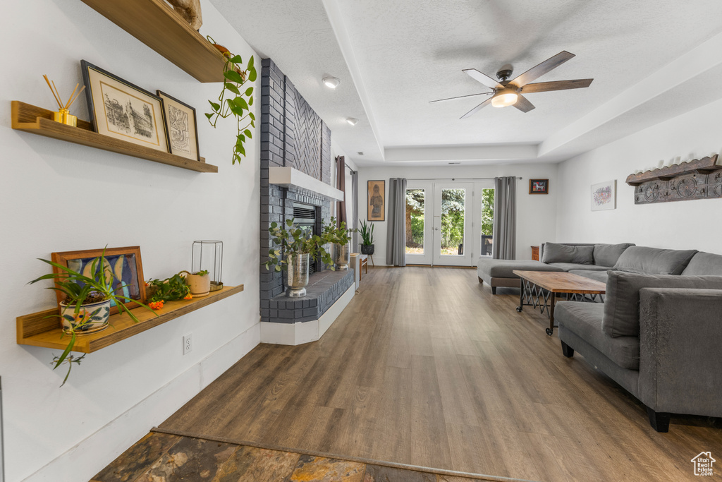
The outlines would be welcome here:
[[[103,249],[84,249],[83,251],[64,251],[51,254],[53,262],[70,268],[89,277],[93,259],[100,257]],[[127,296],[141,303],[145,303],[145,280],[143,277],[143,263],[140,258],[140,246],[126,246],[124,248],[105,248],[105,268],[113,275],[112,286],[116,293]],[[53,267],[53,272],[60,270]],[[65,295],[56,291],[58,303],[64,300]],[[132,301],[123,303],[127,308],[133,309],[138,305]],[[110,314],[118,313],[118,306],[110,302]]]

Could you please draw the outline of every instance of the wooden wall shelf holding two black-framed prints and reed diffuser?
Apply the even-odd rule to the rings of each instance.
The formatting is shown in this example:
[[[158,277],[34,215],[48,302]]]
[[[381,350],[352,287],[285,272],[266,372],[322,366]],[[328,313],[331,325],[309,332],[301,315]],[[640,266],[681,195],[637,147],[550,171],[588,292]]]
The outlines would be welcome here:
[[[155,163],[175,165],[177,168],[190,169],[199,173],[217,173],[218,166],[206,164],[205,159],[202,162],[181,158],[179,155],[173,155],[168,152],[151,149],[142,145],[133,144],[132,142],[114,139],[113,137],[104,136],[93,132],[90,122],[78,119],[78,126],[68,126],[60,122],[53,121],[53,111],[31,106],[19,100],[12,101],[12,128],[19,131],[30,132],[30,134],[38,134],[45,137],[53,137],[75,144],[87,145],[97,149],[109,150],[110,152],[118,152],[141,158],[152,160]]]

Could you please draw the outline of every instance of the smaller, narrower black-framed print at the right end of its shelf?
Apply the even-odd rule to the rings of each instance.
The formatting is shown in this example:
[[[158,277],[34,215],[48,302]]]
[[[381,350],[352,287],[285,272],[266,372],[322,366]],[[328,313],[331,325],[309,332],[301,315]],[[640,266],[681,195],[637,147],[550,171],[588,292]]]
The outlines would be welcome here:
[[[170,153],[186,159],[200,160],[196,109],[165,92],[156,92],[163,100],[163,117],[165,130],[168,131]]]

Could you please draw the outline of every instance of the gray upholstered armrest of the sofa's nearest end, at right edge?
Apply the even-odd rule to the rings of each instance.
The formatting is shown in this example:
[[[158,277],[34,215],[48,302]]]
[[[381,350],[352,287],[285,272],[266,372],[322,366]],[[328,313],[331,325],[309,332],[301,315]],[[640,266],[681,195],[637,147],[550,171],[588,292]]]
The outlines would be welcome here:
[[[640,290],[639,393],[656,412],[722,416],[722,290]]]

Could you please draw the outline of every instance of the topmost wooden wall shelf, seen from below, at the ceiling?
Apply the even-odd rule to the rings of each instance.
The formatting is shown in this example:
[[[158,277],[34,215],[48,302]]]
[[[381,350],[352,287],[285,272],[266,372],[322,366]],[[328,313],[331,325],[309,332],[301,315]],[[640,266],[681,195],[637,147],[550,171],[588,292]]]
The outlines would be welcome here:
[[[82,0],[200,82],[223,82],[225,59],[163,0]]]

